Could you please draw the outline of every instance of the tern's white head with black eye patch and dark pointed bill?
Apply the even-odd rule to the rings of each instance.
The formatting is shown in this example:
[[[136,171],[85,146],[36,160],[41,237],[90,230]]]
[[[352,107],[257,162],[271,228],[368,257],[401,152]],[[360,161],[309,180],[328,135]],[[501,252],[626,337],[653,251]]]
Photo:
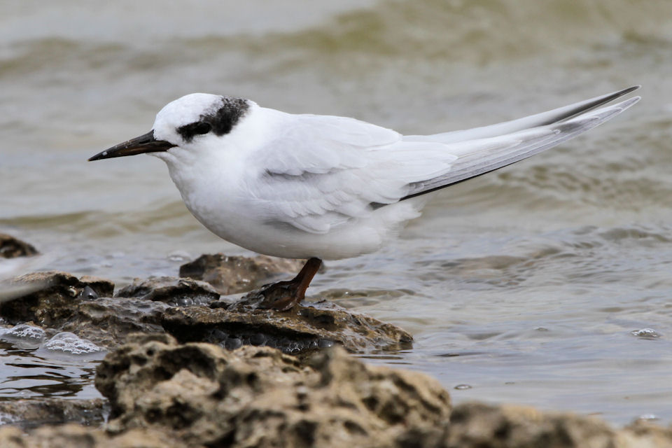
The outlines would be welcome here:
[[[248,99],[192,93],[159,111],[150,132],[112,146],[89,160],[151,153],[165,160],[172,148],[194,152],[229,134],[253,102]]]

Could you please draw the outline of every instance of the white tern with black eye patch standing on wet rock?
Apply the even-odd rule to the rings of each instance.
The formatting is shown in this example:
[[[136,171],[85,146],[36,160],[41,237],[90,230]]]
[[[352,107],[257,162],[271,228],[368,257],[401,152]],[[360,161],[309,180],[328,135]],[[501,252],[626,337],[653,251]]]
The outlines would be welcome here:
[[[193,93],[152,130],[89,160],[147,153],[166,162],[189,211],[251,251],[307,258],[267,285],[259,307],[304,299],[322,260],[377,251],[420,216],[428,193],[552,148],[638,102],[639,86],[525,118],[433,135],[402,135],[354,118],[292,114],[249,99]]]

